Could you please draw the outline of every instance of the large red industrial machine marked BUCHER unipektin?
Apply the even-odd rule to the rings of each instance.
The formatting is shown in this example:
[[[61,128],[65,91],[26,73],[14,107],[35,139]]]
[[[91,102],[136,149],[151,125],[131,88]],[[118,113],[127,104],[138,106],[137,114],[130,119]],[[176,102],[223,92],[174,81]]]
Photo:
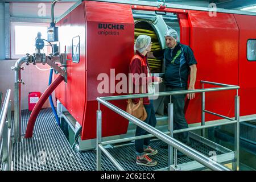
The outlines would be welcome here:
[[[175,16],[176,22],[170,17],[164,18],[168,14]],[[154,17],[162,17],[162,27],[156,26]],[[256,16],[228,11],[209,16],[209,12],[203,10],[83,1],[56,24],[60,52],[67,51],[70,59],[67,62],[67,83],[62,82],[57,87],[56,98],[82,126],[81,139],[96,138],[96,98],[120,95],[111,90],[110,85],[109,93],[98,93],[102,81],[98,76],[105,73],[109,76],[109,84],[113,80],[117,84],[119,80],[115,75],[127,75],[134,55],[135,28],[144,26],[155,31],[161,48],[164,48],[163,31],[175,26],[180,32],[180,42],[190,46],[195,53],[198,63],[196,89],[201,88],[200,80],[239,85],[240,115],[256,114],[256,80],[253,78],[256,60],[247,59],[249,43],[254,45],[254,51],[256,47],[254,22]],[[110,69],[114,69],[114,76]],[[209,87],[212,86],[205,85],[205,88]],[[207,93],[205,109],[234,117],[235,94],[235,91]],[[121,109],[126,108],[125,100],[112,103]],[[129,122],[126,119],[105,106],[101,106],[101,110],[102,137],[127,132]],[[205,117],[206,121],[219,119],[208,114]],[[188,123],[201,122],[200,94],[189,103],[186,118]]]

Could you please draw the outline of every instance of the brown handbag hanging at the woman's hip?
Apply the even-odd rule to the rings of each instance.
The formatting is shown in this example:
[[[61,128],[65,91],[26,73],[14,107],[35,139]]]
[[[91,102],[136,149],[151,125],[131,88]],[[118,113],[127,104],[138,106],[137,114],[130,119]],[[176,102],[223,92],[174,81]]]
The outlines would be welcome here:
[[[126,107],[126,112],[133,115],[134,117],[145,121],[147,118],[147,111],[143,104],[143,98],[139,99],[138,104],[135,104],[133,100],[129,99]]]

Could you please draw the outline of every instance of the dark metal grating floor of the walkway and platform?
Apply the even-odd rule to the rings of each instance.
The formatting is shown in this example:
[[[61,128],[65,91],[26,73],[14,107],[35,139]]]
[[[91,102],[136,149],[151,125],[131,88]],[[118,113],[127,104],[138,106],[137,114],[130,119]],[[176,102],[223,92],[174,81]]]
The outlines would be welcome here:
[[[25,133],[30,111],[22,111],[22,134]],[[155,167],[138,166],[135,162],[135,146],[109,148],[108,151],[127,171],[156,170],[167,167],[168,150],[160,148],[159,140],[151,142],[158,149],[158,154],[152,159],[158,161]],[[212,148],[192,140],[192,147],[205,155]],[[220,152],[216,151],[217,155]],[[0,159],[1,161],[1,159]],[[187,156],[178,158],[179,163],[191,162]],[[117,170],[112,162],[102,152],[102,169]],[[51,108],[42,109],[36,119],[34,135],[30,139],[22,139],[13,146],[13,170],[96,170],[96,151],[85,151],[79,154],[73,152],[68,140],[60,127],[56,125]]]

